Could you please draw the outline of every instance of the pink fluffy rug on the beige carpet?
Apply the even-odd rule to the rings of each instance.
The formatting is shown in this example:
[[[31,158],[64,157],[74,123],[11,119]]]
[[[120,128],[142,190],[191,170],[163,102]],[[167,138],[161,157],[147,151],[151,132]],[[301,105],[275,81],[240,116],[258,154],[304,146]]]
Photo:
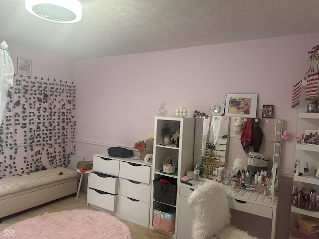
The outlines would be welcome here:
[[[92,210],[44,213],[9,226],[0,232],[1,236],[16,239],[132,239],[130,229],[119,219]]]

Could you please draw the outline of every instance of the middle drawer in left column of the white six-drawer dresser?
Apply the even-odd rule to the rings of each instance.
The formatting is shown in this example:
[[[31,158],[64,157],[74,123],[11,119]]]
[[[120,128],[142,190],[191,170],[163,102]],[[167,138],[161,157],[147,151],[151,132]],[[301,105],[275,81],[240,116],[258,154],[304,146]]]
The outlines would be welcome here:
[[[89,187],[111,194],[118,194],[119,178],[103,173],[90,173]]]

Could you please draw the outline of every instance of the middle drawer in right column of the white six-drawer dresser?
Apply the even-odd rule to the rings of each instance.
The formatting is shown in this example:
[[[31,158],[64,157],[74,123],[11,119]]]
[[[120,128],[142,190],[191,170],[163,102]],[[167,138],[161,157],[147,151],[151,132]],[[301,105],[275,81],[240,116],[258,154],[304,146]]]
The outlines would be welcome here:
[[[137,183],[120,178],[119,194],[149,203],[151,198],[151,184]]]

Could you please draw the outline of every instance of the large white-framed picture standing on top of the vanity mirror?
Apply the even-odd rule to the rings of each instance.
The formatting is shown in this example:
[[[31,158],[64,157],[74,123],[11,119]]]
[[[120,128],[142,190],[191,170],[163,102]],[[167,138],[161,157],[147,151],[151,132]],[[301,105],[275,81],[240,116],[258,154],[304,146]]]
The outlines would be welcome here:
[[[256,118],[258,94],[226,94],[225,116]]]

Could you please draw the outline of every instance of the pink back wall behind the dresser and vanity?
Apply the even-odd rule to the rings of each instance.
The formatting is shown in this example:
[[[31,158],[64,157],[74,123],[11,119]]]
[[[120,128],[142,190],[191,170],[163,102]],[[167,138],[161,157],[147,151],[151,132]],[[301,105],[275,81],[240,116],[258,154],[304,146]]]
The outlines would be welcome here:
[[[292,87],[303,79],[308,54],[319,34],[208,45],[75,61],[76,138],[132,147],[154,131],[154,116],[166,102],[167,116],[183,102],[209,113],[227,93],[259,94],[274,105],[292,135],[282,144],[280,171],[292,173],[298,109]],[[81,149],[79,149],[81,151]],[[81,152],[85,154],[85,151]],[[92,155],[84,155],[87,158]]]

